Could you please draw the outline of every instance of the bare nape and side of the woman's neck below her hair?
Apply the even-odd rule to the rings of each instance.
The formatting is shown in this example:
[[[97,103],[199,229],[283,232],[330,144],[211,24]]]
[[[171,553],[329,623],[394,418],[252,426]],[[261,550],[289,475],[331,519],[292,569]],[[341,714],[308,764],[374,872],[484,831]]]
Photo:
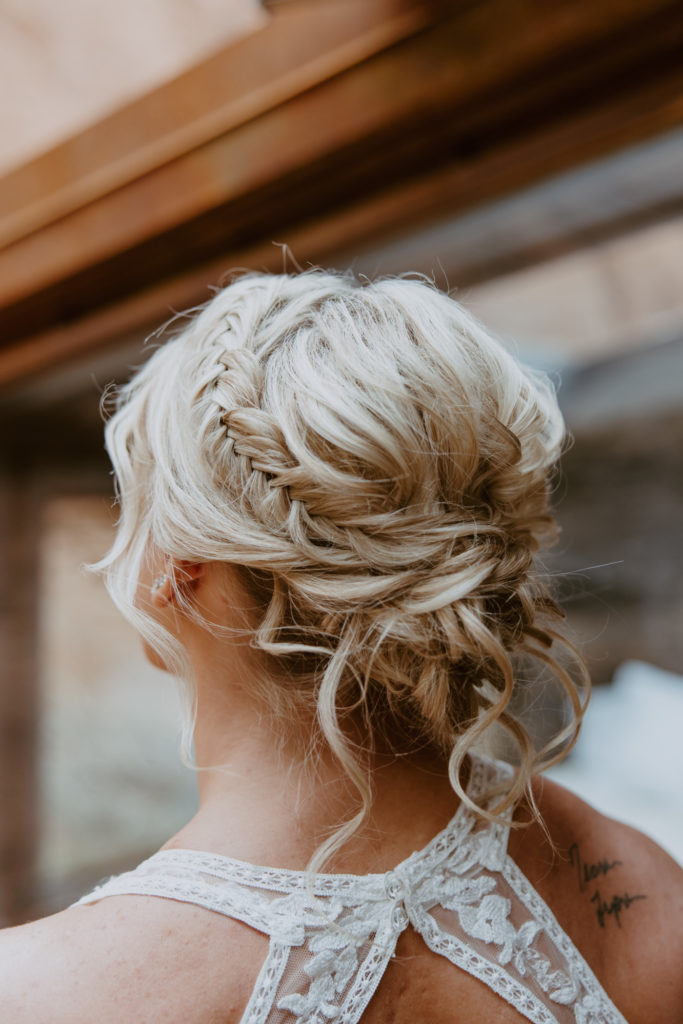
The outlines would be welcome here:
[[[216,621],[215,618],[213,621]],[[321,843],[361,806],[314,721],[283,728],[255,693],[292,685],[268,677],[260,651],[186,621],[179,639],[197,686],[195,752],[200,809],[169,846],[273,866],[304,867]],[[431,752],[367,757],[373,800],[366,822],[330,869],[364,872],[402,859],[455,813],[443,760]],[[390,863],[389,863],[390,866]]]

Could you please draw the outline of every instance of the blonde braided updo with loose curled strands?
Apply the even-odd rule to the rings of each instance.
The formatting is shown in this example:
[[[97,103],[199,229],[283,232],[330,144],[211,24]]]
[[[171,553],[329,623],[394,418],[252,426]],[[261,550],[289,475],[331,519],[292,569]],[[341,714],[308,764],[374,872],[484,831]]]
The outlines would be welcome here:
[[[121,390],[106,426],[121,518],[99,567],[178,673],[182,652],[135,604],[150,543],[240,567],[265,595],[252,643],[285,671],[260,696],[283,718],[312,708],[362,798],[327,849],[372,799],[350,715],[370,746],[440,750],[467,802],[463,760],[502,724],[520,768],[479,809],[497,815],[563,756],[583,711],[533,561],[556,532],[563,439],[549,380],[425,281],[249,273]],[[510,710],[520,655],[571,709],[541,752]]]

